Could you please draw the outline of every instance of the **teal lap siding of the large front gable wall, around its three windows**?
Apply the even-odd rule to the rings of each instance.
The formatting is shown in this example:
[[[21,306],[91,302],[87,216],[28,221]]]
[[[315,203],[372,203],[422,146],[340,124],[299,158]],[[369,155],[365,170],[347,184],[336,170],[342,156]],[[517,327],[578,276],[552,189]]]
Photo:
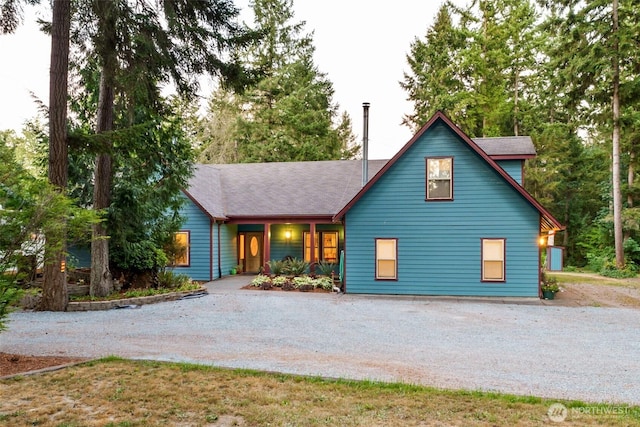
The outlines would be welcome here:
[[[453,201],[425,201],[425,157],[453,157]],[[538,296],[539,213],[449,128],[427,130],[345,216],[348,293]],[[398,277],[375,280],[375,239]],[[481,239],[506,242],[506,281],[482,282]]]

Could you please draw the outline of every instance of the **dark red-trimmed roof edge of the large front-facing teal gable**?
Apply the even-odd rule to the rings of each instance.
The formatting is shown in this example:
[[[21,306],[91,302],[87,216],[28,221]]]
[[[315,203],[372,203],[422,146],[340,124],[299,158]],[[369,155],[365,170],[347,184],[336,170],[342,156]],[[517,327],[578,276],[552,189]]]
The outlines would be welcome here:
[[[464,143],[466,143],[469,148],[475,151],[482,159],[484,159],[491,168],[493,168],[498,175],[500,175],[511,187],[513,187],[525,200],[527,200],[539,213],[540,213],[540,228],[542,231],[549,230],[562,230],[564,226],[551,215],[549,211],[547,211],[536,199],[533,198],[531,194],[529,194],[524,187],[522,187],[516,180],[514,180],[511,175],[505,172],[492,158],[491,156],[485,152],[482,148],[480,148],[479,144],[474,142],[471,138],[469,138],[460,128],[458,128],[444,113],[441,111],[436,112],[431,119],[405,144],[404,147],[398,151],[398,153],[393,156],[391,160],[389,160],[382,169],[376,173],[373,178],[367,182],[367,184],[358,191],[358,193],[347,203],[341,210],[336,214],[334,220],[339,220],[351,209],[351,207],[367,192],[369,189],[398,161],[408,150],[413,146],[422,137],[422,135],[433,127],[436,123],[442,122],[447,127],[449,127],[456,135],[458,135]],[[493,139],[493,138],[491,138]],[[487,141],[483,141],[487,142]],[[487,142],[493,143],[495,141]],[[532,144],[533,145],[533,144]]]

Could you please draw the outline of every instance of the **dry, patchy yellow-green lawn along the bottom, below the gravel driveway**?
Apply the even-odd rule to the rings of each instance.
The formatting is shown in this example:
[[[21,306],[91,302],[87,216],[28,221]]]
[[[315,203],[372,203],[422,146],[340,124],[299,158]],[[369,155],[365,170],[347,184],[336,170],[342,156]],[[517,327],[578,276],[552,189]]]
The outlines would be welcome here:
[[[0,391],[6,426],[640,426],[640,407],[626,405],[118,358]]]

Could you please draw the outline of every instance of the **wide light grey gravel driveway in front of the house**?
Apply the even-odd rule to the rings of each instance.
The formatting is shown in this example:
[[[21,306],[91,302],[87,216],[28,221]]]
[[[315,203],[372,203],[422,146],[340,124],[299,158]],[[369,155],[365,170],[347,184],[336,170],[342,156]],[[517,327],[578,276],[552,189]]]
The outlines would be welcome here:
[[[239,290],[246,282],[137,309],[13,313],[0,351],[640,404],[640,310]]]

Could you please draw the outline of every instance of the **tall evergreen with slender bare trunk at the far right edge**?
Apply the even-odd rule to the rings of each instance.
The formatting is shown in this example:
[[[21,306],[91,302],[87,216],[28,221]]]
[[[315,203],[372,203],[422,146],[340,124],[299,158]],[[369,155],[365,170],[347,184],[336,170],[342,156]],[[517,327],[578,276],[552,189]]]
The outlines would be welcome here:
[[[621,174],[625,157],[635,159],[630,143],[622,138],[622,123],[633,123],[623,116],[636,106],[639,80],[638,11],[631,0],[544,1],[553,12],[547,30],[555,38],[550,52],[558,65],[558,79],[562,82],[567,102],[579,109],[585,123],[595,131],[593,136],[609,134],[611,143],[611,184],[613,200],[613,228],[616,264],[625,264],[623,247],[623,204]],[[633,125],[631,125],[633,127]],[[634,132],[630,132],[633,135]],[[631,163],[633,168],[633,163]],[[633,169],[628,174],[633,179]],[[634,187],[629,182],[629,188]],[[632,204],[632,198],[627,198]]]

